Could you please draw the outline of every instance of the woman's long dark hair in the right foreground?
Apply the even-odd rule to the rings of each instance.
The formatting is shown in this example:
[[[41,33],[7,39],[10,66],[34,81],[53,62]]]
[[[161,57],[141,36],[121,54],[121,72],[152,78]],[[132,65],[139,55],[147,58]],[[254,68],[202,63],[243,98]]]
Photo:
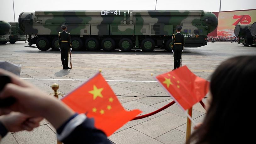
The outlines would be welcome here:
[[[220,64],[211,77],[212,101],[209,110],[203,124],[195,130],[187,143],[252,141],[256,121],[253,119],[255,83],[256,56],[238,56]],[[251,132],[249,127],[253,127]]]

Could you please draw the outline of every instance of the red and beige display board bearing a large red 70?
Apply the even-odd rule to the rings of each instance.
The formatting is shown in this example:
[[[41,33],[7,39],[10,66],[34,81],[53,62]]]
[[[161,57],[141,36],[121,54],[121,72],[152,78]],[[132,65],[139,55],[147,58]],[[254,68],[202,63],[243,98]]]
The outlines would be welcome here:
[[[213,12],[218,18],[218,27],[208,36],[235,36],[238,24],[248,25],[256,22],[256,9]]]

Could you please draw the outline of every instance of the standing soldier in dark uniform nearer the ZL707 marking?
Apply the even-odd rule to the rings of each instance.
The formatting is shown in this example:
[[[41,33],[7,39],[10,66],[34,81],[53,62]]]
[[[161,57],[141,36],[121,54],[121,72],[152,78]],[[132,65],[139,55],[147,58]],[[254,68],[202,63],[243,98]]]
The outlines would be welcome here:
[[[176,34],[172,36],[172,53],[174,57],[174,69],[180,67],[181,64],[181,53],[183,52],[184,48],[184,36],[181,34],[181,25],[176,26]],[[173,69],[173,70],[174,70]]]

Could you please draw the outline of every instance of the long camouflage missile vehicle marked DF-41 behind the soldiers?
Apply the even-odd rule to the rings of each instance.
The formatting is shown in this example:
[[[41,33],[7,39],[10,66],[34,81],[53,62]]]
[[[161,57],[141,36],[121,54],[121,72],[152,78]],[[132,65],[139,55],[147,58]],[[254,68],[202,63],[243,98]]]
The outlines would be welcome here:
[[[63,23],[68,25],[73,50],[130,51],[136,46],[151,52],[156,46],[171,50],[176,25],[182,26],[185,47],[207,45],[207,34],[217,27],[218,20],[204,11],[35,11],[19,15],[29,45],[36,44],[40,50],[58,50]]]

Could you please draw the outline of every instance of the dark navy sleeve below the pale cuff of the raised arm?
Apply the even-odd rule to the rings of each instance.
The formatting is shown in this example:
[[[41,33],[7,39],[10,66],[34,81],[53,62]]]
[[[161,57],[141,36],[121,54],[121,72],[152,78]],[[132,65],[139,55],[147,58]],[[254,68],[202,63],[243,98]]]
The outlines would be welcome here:
[[[89,118],[78,125],[62,142],[65,144],[112,144],[101,130],[94,127],[94,120]]]

